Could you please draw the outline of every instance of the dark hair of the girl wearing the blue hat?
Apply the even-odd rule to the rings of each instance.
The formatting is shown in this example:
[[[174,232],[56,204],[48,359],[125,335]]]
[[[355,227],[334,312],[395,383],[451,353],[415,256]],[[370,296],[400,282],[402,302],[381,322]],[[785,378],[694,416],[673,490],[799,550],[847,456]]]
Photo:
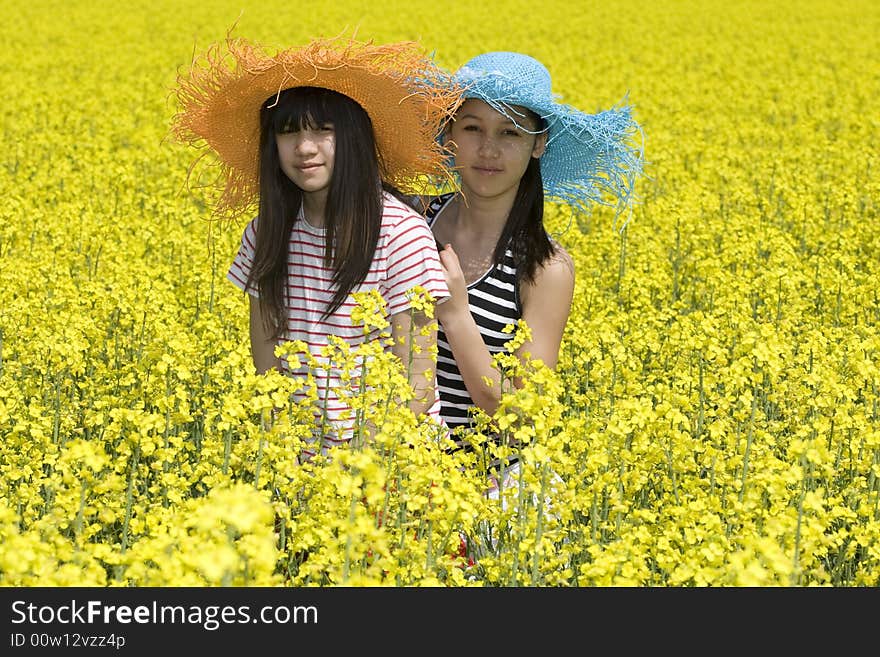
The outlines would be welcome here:
[[[534,120],[538,130],[544,129],[546,124],[541,117],[529,109],[517,108],[517,111],[520,110],[524,110]],[[504,260],[508,246],[516,263],[517,283],[533,282],[538,267],[556,253],[556,248],[544,228],[544,183],[541,179],[540,158],[529,158],[525,173],[520,178],[510,214],[495,244],[492,260],[496,265]]]

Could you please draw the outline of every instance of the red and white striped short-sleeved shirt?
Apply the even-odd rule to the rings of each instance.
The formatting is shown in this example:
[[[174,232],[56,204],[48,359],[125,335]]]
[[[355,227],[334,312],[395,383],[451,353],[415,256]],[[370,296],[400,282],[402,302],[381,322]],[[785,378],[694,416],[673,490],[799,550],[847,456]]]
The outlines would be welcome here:
[[[251,220],[245,227],[241,248],[226,275],[241,290],[245,290],[253,262],[256,221],[257,219]],[[332,335],[340,337],[351,348],[355,348],[377,339],[379,331],[373,329],[365,334],[362,325],[352,324],[351,311],[355,302],[351,294],[332,315],[322,318],[334,289],[333,270],[324,265],[325,235],[323,228],[311,226],[300,212],[293,224],[288,247],[285,295],[287,330],[282,339],[305,342],[309,353],[322,366],[311,369],[319,395],[315,404],[316,424],[313,434],[316,440],[321,441],[322,450],[326,453],[327,448],[350,440],[353,421],[345,417],[349,407],[338,390],[347,385],[341,380],[342,372],[338,367],[327,367],[328,358],[321,354],[321,350],[328,345],[328,337]],[[424,217],[385,193],[376,253],[363,283],[352,292],[378,291],[386,302],[385,318],[390,321],[395,314],[409,311],[406,293],[416,285],[425,288],[435,300],[449,296],[436,242]],[[246,291],[258,296],[253,287]],[[386,347],[386,350],[390,350],[390,347]],[[304,361],[305,358],[300,360]],[[297,369],[291,368],[286,359],[282,361],[282,365],[291,376],[304,376],[309,371],[309,365],[305,362]],[[359,373],[351,372],[352,376],[357,374]],[[434,405],[428,415],[442,424],[440,395],[436,386],[435,380]],[[302,401],[306,396],[306,390],[302,389],[295,394],[295,399]],[[306,452],[305,456],[310,454]]]

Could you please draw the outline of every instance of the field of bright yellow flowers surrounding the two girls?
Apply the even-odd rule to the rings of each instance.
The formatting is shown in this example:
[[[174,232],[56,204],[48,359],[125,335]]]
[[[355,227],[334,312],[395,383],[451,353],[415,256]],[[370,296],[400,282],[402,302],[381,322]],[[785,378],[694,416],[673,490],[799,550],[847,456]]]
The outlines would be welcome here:
[[[880,5],[363,5],[4,11],[0,585],[880,585]],[[391,403],[378,349],[352,390],[375,440],[298,464],[309,382],[253,373],[242,226],[169,135],[233,25],[451,69],[518,50],[565,102],[633,104],[625,230],[548,207],[575,303],[558,372],[491,419],[526,464],[502,499]]]

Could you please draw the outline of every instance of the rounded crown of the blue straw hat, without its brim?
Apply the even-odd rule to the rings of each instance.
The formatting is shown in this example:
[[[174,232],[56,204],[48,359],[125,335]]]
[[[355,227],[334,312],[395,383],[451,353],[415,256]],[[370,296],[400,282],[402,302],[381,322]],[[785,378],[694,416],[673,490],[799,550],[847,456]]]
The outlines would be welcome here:
[[[455,74],[465,98],[493,99],[540,110],[553,101],[550,71],[533,57],[516,52],[477,55]]]

